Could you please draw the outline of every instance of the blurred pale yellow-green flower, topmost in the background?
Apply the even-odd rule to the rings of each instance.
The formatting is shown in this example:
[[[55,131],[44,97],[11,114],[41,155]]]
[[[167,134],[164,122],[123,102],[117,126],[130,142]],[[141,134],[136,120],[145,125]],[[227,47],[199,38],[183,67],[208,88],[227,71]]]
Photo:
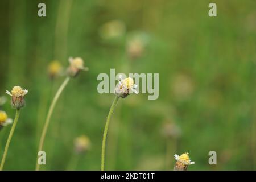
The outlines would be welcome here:
[[[102,39],[118,38],[125,33],[125,24],[120,20],[112,20],[103,24],[100,28],[100,36]]]

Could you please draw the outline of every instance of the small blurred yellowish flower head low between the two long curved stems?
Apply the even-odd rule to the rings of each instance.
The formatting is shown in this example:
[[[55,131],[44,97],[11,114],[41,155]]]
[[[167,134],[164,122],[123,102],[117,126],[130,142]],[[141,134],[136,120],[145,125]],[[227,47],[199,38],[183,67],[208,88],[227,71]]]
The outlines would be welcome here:
[[[80,137],[77,137],[74,140],[74,146],[75,146],[75,151],[78,154],[82,152],[86,152],[90,149],[90,139],[85,135],[81,135]]]

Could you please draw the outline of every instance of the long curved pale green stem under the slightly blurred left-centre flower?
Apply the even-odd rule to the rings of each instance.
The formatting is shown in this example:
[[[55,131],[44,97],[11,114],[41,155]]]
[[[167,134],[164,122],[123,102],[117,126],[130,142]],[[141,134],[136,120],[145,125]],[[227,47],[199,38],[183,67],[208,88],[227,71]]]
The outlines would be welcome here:
[[[57,93],[55,94],[55,96],[52,100],[51,106],[49,107],[49,111],[48,111],[48,114],[47,114],[47,117],[46,117],[46,122],[44,123],[43,132],[42,132],[42,135],[41,135],[41,138],[40,138],[38,151],[43,150],[44,139],[46,138],[46,132],[47,132],[47,129],[48,129],[49,121],[50,121],[51,116],[52,116],[53,109],[56,105],[57,100],[60,97],[61,92],[63,92],[63,90],[64,90],[65,86],[68,84],[69,80],[70,80],[70,77],[67,77],[64,80],[63,84],[61,84],[59,90],[57,91]],[[36,160],[36,171],[39,171],[39,169],[40,169],[40,166],[39,166],[38,158],[37,158],[37,160]]]

